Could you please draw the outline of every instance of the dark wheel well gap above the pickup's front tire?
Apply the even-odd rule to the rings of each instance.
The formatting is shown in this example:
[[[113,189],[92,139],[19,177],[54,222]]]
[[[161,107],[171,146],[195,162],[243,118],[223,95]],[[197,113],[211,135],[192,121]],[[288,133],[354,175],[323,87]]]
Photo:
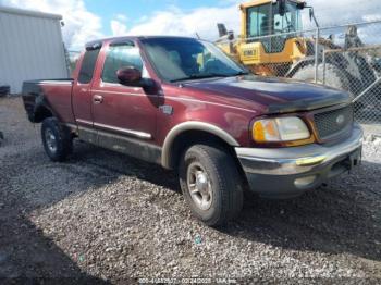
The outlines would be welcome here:
[[[222,138],[205,131],[186,131],[181,133],[171,145],[170,169],[176,170],[183,152],[196,144],[218,147],[224,151],[229,151],[233,158],[236,157],[234,148]]]

